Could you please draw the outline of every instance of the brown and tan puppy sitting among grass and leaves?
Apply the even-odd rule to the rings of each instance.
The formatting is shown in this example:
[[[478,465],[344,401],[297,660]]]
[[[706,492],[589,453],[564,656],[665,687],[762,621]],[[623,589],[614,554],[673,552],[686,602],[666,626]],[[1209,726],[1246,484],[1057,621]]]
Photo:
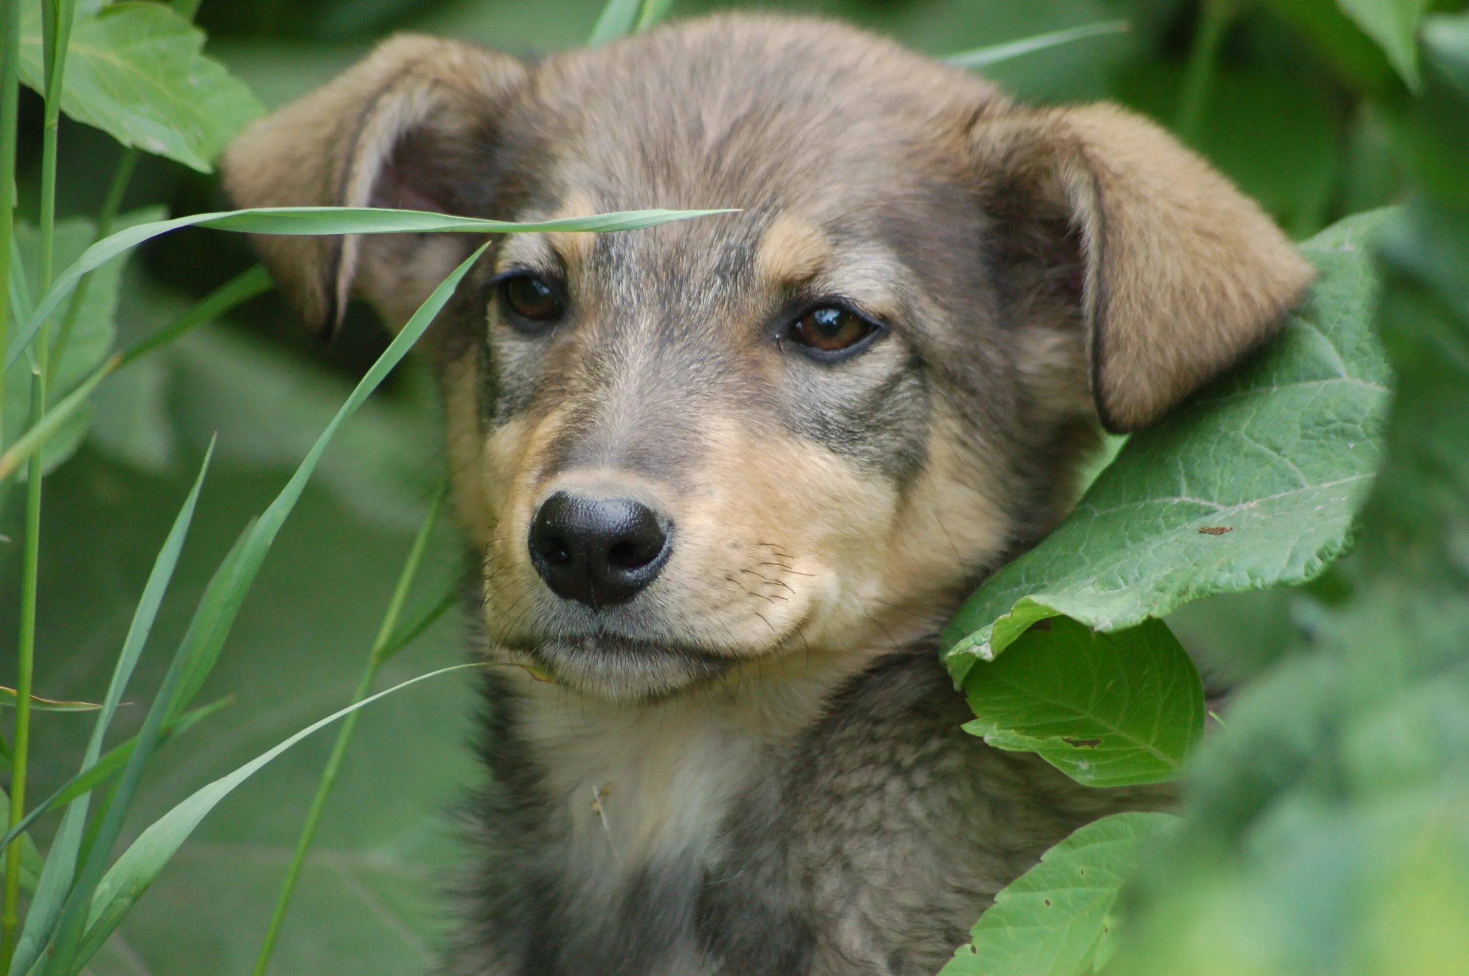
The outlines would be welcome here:
[[[934,973],[1086,790],[967,735],[945,619],[1310,277],[1108,106],[1025,109],[821,21],[524,63],[398,37],[256,123],[248,207],[541,220],[426,339],[486,678],[454,976]],[[259,238],[304,316],[403,321],[464,235]]]

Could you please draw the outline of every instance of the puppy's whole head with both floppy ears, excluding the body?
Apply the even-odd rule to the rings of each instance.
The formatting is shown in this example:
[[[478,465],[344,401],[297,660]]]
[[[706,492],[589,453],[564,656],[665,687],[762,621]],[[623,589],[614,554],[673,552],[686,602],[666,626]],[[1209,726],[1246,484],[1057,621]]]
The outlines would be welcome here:
[[[1150,423],[1309,280],[1152,125],[815,21],[533,68],[397,38],[225,169],[244,205],[739,208],[502,236],[429,339],[492,643],[621,702],[931,634],[1065,512],[1099,420]],[[398,326],[472,242],[259,245],[307,317]]]

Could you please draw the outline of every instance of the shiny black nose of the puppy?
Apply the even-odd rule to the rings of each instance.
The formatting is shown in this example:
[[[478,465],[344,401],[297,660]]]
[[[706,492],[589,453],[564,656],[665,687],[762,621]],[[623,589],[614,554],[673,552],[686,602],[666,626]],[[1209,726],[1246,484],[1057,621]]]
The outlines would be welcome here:
[[[592,609],[623,603],[668,562],[664,521],[632,499],[557,492],[530,522],[530,562],[558,596]]]

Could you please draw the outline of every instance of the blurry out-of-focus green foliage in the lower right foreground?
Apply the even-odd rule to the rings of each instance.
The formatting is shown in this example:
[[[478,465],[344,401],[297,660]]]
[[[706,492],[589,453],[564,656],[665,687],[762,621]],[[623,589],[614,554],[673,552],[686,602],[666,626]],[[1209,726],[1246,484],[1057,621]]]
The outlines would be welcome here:
[[[1465,25],[1438,37],[1469,40]],[[1426,97],[1469,113],[1469,85],[1428,54]],[[1119,973],[1456,973],[1469,958],[1469,302],[1453,257],[1469,210],[1425,186],[1379,247],[1398,383],[1354,591],[1200,753],[1184,823],[1138,879]]]

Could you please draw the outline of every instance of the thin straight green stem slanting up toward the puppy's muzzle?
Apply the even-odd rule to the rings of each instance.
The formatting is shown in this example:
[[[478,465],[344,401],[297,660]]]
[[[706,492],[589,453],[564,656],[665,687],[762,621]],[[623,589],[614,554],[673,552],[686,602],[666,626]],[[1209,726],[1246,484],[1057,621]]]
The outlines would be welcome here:
[[[372,693],[373,682],[378,680],[378,671],[382,663],[389,658],[391,640],[394,637],[394,630],[398,627],[398,616],[403,613],[403,605],[408,599],[408,590],[413,587],[413,580],[419,572],[419,564],[423,562],[423,553],[427,550],[429,539],[433,534],[433,527],[439,520],[439,512],[444,508],[444,499],[448,495],[448,481],[439,489],[429,503],[429,511],[423,517],[423,524],[419,527],[419,534],[413,540],[413,547],[408,550],[408,559],[403,564],[403,572],[398,574],[398,584],[392,590],[392,599],[388,600],[388,611],[382,616],[382,624],[378,627],[378,636],[373,638],[372,650],[367,653],[367,665],[363,668],[361,677],[357,680],[357,690],[353,693],[353,704],[357,704]],[[316,838],[316,828],[320,825],[322,812],[326,809],[326,800],[332,793],[332,787],[336,785],[336,775],[341,772],[342,760],[347,756],[347,747],[353,741],[353,732],[357,731],[357,719],[361,712],[353,712],[342,721],[341,729],[336,732],[336,743],[332,746],[332,754],[326,760],[326,768],[322,771],[322,779],[316,787],[316,795],[311,798],[311,807],[307,810],[306,823],[301,826],[301,837],[295,842],[295,854],[291,857],[291,864],[286,867],[285,881],[281,884],[281,894],[276,897],[275,911],[270,914],[270,928],[266,929],[266,938],[260,945],[260,955],[256,958],[256,967],[253,970],[254,976],[264,976],[266,969],[270,966],[270,955],[275,953],[276,939],[281,936],[281,925],[285,922],[286,908],[291,904],[291,895],[295,892],[297,881],[301,878],[301,867],[306,864],[306,854],[311,847],[311,841]]]

